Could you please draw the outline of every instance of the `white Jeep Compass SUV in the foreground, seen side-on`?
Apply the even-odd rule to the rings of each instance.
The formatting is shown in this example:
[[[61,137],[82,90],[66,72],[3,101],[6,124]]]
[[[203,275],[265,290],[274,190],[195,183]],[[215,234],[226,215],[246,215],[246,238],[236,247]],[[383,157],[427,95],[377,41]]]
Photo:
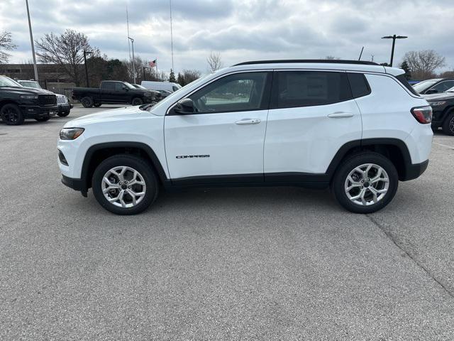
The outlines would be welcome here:
[[[331,187],[351,212],[386,206],[431,151],[431,107],[404,71],[348,60],[226,67],[152,106],[65,124],[62,182],[106,210],[145,210],[160,188]]]

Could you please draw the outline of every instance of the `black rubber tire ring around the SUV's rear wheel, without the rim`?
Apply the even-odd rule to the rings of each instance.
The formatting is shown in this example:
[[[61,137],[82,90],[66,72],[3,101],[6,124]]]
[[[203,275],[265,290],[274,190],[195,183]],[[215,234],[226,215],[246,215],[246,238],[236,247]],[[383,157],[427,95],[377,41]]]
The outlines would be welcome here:
[[[375,163],[376,165],[382,167],[389,176],[389,188],[386,195],[382,200],[370,206],[361,206],[355,204],[354,202],[351,202],[345,194],[344,188],[345,179],[347,178],[350,171],[364,163]],[[379,153],[370,152],[360,153],[343,161],[343,163],[341,163],[341,165],[339,166],[338,171],[336,171],[336,174],[334,175],[331,188],[333,190],[334,196],[336,197],[336,200],[342,207],[350,212],[364,214],[377,212],[378,210],[381,210],[383,207],[388,205],[389,202],[391,202],[394,198],[398,185],[399,174],[397,173],[397,170],[392,162]]]

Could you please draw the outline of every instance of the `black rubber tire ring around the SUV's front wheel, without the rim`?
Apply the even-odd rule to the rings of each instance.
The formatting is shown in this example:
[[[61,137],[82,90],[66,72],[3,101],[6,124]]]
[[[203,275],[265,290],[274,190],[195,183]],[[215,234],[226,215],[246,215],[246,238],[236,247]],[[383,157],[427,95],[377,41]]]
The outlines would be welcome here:
[[[106,174],[109,169],[118,166],[128,166],[134,168],[143,176],[143,179],[145,180],[145,185],[147,187],[145,197],[135,207],[123,208],[114,206],[106,200],[106,197],[104,197],[104,194],[102,193],[101,183],[104,174]],[[109,212],[113,212],[117,215],[135,215],[143,212],[143,210],[146,210],[156,200],[158,183],[156,175],[153,172],[153,168],[142,158],[128,155],[111,156],[110,158],[106,158],[106,160],[102,161],[94,171],[92,178],[92,190],[94,197],[96,197],[99,204]]]

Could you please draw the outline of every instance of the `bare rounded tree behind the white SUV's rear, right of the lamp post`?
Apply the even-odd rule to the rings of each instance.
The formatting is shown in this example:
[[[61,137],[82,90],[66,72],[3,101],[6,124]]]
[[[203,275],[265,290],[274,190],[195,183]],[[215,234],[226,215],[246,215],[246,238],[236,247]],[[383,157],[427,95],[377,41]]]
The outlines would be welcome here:
[[[434,50],[409,51],[404,55],[411,75],[418,80],[435,76],[435,70],[445,65],[445,58]]]

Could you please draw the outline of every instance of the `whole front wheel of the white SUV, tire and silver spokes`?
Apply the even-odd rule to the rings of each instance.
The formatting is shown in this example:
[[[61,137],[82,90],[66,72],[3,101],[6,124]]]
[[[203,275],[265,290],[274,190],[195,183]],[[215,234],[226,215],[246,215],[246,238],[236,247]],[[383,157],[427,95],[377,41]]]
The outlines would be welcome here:
[[[133,171],[137,171],[138,175],[135,179],[143,181],[145,187],[140,184],[135,184],[129,188],[129,185],[127,185],[126,182],[122,183],[119,174],[121,174],[121,171],[123,170],[123,181],[126,180],[131,183],[133,180]],[[110,185],[105,182],[104,178],[109,180]],[[103,189],[108,187],[111,187],[112,190],[104,195]],[[150,164],[143,160],[143,158],[128,154],[111,156],[102,161],[94,171],[92,188],[94,197],[96,197],[99,204],[116,215],[135,215],[143,212],[143,210],[146,210],[156,200],[159,189],[156,175]],[[132,195],[129,194],[131,192],[129,191],[132,190],[135,193],[143,193],[144,188],[145,195],[137,195],[135,197],[136,204],[134,205]],[[118,200],[111,203],[106,196],[111,199],[117,197]],[[130,207],[122,207],[122,204],[126,204]]]

